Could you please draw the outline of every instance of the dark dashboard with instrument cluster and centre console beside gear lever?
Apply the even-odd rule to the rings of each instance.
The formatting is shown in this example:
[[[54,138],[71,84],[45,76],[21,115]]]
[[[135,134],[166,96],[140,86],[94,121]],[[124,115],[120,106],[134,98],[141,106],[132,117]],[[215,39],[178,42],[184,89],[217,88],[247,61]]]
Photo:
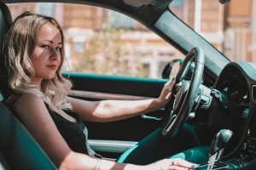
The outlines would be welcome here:
[[[256,160],[256,65],[247,61],[226,65],[213,88],[222,96],[221,105],[229,108],[221,118],[232,122],[235,131],[225,162],[234,168],[246,167]]]

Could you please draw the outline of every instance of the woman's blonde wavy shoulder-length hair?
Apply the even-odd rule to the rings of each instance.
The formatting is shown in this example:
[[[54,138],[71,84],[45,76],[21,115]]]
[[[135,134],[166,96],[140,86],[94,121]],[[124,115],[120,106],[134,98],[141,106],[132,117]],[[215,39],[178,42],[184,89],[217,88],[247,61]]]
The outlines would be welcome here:
[[[30,56],[36,46],[38,32],[47,22],[60,30],[63,46],[61,48],[61,64],[55,77],[44,79],[40,91],[32,84],[31,77],[35,75],[35,71]],[[35,94],[42,98],[50,108],[57,106],[61,109],[71,109],[66,98],[72,88],[72,83],[61,76],[61,67],[65,59],[64,35],[61,26],[54,18],[29,12],[20,14],[4,38],[3,53],[9,79],[8,85],[13,92],[7,103],[12,103],[17,94]]]

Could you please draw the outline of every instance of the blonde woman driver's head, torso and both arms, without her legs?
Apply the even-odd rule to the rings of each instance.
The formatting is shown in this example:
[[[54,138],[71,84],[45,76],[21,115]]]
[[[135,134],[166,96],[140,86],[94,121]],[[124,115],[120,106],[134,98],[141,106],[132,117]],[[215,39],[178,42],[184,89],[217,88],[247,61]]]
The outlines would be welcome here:
[[[144,166],[103,160],[90,149],[82,122],[117,121],[161,108],[170,99],[174,82],[166,83],[158,99],[90,102],[67,97],[72,84],[61,77],[61,26],[40,14],[20,14],[3,42],[3,51],[12,92],[7,103],[60,169],[193,167],[181,159],[164,159]]]

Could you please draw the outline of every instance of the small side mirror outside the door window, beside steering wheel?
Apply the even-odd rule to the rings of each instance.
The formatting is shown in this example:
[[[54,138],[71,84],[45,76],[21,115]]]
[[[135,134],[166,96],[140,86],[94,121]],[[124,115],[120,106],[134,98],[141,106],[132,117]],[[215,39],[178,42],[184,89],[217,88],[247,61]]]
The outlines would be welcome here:
[[[162,71],[162,78],[170,79],[170,77],[176,77],[177,71],[179,70],[180,65],[182,65],[183,59],[173,59],[168,63],[164,70]]]

